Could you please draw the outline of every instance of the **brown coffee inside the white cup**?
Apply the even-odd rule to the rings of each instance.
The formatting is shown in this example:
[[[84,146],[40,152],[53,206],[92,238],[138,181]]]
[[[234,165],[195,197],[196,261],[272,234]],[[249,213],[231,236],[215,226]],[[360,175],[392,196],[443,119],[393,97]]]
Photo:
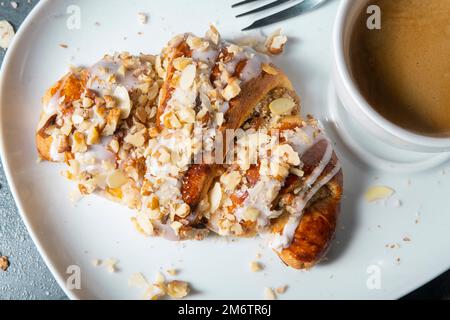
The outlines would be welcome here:
[[[450,0],[371,0],[381,29],[361,13],[350,43],[353,77],[368,103],[409,131],[450,136]]]

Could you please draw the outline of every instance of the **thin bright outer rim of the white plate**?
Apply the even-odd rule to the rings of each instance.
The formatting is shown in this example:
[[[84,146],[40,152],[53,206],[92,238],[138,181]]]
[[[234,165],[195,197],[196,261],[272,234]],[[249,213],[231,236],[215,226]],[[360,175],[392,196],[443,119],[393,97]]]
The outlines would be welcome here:
[[[52,276],[55,278],[56,282],[58,283],[59,287],[63,290],[63,292],[66,294],[66,296],[71,300],[79,300],[81,297],[76,294],[76,292],[71,291],[67,289],[65,286],[65,280],[63,278],[62,273],[60,273],[56,269],[56,265],[53,263],[53,260],[49,258],[49,255],[47,254],[47,250],[44,248],[40,241],[40,237],[36,234],[34,231],[34,227],[30,223],[30,220],[28,219],[28,215],[26,214],[26,211],[24,210],[24,206],[22,204],[21,197],[19,196],[17,186],[15,184],[15,180],[13,179],[13,175],[10,170],[10,164],[8,160],[8,155],[6,153],[5,149],[5,142],[4,142],[4,127],[3,127],[3,121],[2,115],[4,113],[4,107],[2,104],[2,97],[4,92],[4,86],[5,86],[5,78],[8,73],[8,70],[10,68],[11,60],[13,59],[14,52],[17,50],[17,46],[19,42],[22,40],[24,35],[27,33],[29,28],[32,26],[33,21],[35,18],[42,13],[48,6],[51,5],[51,3],[54,0],[40,0],[36,6],[30,11],[30,13],[27,15],[25,20],[22,22],[20,27],[17,30],[17,33],[14,37],[14,40],[11,44],[11,46],[6,51],[6,55],[3,59],[3,63],[0,70],[0,159],[3,163],[3,169],[5,172],[6,180],[9,186],[9,189],[11,191],[11,194],[13,196],[13,199],[15,201],[15,205],[17,206],[19,215],[27,229],[28,234],[30,235],[30,238],[33,240],[34,245],[36,246],[37,251],[39,252],[40,256],[42,257],[45,265],[50,270]],[[342,6],[343,3],[339,4],[339,7]],[[446,272],[447,269],[439,271],[438,274],[425,274],[424,277],[415,282],[414,285],[410,287],[402,287],[400,289],[397,289],[392,292],[387,292],[385,295],[385,299],[400,299],[404,297],[405,295],[417,290],[418,288],[422,287],[424,284],[436,279],[440,275],[442,275],[444,272]],[[99,298],[101,299],[101,298]],[[338,298],[339,299],[339,298]]]

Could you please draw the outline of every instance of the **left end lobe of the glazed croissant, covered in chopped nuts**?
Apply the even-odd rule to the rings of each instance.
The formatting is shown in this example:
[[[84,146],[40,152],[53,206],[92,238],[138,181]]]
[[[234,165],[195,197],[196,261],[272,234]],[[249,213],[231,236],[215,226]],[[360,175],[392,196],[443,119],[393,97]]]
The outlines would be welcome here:
[[[63,162],[74,198],[98,193],[140,208],[145,142],[157,133],[161,78],[155,56],[106,55],[71,70],[43,97],[36,130],[39,157]]]

